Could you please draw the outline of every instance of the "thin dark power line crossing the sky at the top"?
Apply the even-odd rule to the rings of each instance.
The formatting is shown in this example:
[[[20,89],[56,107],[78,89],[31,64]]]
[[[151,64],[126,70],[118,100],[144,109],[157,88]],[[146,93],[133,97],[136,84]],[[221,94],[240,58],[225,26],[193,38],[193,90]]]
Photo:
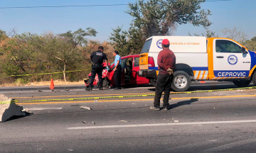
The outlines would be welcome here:
[[[208,0],[213,1],[234,1],[234,0]],[[206,1],[206,2],[208,2]],[[79,6],[13,6],[13,7],[0,7],[0,9],[9,8],[67,8],[67,7],[96,7],[96,6],[128,6],[129,4],[105,4],[105,5],[79,5]]]

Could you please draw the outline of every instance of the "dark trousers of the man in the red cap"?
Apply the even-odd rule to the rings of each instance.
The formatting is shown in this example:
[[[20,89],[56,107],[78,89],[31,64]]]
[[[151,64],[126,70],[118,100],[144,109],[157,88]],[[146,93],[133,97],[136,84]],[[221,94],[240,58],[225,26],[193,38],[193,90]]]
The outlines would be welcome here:
[[[162,92],[164,91],[164,108],[169,107],[169,96],[171,91],[171,83],[174,79],[174,75],[159,74],[156,81],[156,93],[154,97],[154,106],[160,107],[160,99]]]

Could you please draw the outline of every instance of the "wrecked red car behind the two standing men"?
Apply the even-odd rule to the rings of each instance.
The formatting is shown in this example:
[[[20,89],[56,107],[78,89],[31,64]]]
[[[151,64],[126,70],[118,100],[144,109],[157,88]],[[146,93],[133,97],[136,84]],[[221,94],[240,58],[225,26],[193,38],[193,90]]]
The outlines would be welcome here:
[[[114,62],[110,64],[110,69],[107,71],[107,66],[103,66],[102,72],[102,87],[107,88],[108,86],[114,86]],[[121,57],[121,85],[135,85],[135,84],[149,84],[149,79],[145,77],[139,77],[139,55],[128,55],[125,57]],[[95,81],[93,81],[93,85],[98,84],[97,75],[95,77]],[[89,86],[90,83],[90,74],[88,74],[88,78],[85,79],[85,86]]]

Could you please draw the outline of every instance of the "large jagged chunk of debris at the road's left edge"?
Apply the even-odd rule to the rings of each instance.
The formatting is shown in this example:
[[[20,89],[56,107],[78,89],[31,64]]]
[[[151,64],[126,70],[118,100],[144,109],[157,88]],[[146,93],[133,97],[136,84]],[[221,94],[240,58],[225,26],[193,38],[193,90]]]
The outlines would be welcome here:
[[[4,122],[14,115],[23,115],[23,107],[16,105],[14,99],[8,98],[4,94],[0,94],[0,122]]]

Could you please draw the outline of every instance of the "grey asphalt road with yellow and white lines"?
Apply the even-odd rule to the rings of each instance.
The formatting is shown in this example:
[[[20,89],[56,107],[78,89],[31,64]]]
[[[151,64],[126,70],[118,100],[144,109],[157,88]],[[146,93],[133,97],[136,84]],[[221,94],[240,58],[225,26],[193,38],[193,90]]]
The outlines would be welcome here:
[[[189,90],[234,87],[210,82]],[[0,152],[256,152],[255,91],[171,95],[169,111],[151,111],[154,96],[58,100],[154,94],[151,86],[1,91],[34,114],[0,123]]]

